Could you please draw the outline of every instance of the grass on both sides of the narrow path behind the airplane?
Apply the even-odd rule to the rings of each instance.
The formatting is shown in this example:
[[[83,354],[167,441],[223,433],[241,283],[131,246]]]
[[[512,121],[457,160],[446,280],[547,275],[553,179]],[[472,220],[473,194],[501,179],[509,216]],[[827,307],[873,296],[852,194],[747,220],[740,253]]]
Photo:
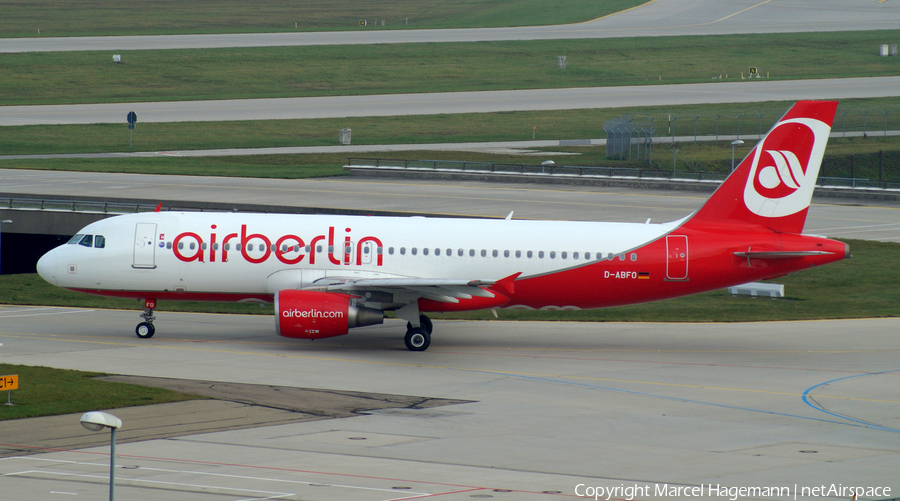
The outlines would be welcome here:
[[[734,134],[735,114],[745,117],[741,123],[747,144],[736,149],[743,157],[756,140],[757,128],[763,132],[792,103],[750,103],[741,105],[678,106],[608,110],[561,110],[546,112],[476,113],[416,117],[363,117],[351,119],[286,120],[256,122],[150,123],[138,126],[135,134],[137,151],[169,151],[182,149],[286,147],[335,145],[338,130],[353,129],[354,144],[431,143],[469,141],[516,141],[531,139],[537,127],[538,139],[603,138],[604,121],[622,114],[638,118],[653,116],[658,124],[654,148],[657,168],[671,169],[672,155],[666,136],[667,119],[674,122],[677,135],[693,133],[693,117],[698,134],[715,132],[714,115],[721,115],[720,134]],[[863,115],[868,138],[834,138],[829,141],[822,176],[849,177],[850,157],[854,156],[854,176],[878,179],[878,155],[882,151],[882,175],[886,180],[900,180],[900,138],[883,137],[884,115],[889,110],[886,127],[900,129],[900,98],[842,101],[839,110],[846,111],[846,129],[860,131]],[[893,110],[893,111],[891,111]],[[756,114],[762,115],[757,126]],[[878,120],[873,120],[872,115]],[[839,115],[840,118],[840,115]],[[841,124],[835,125],[835,131]],[[84,153],[127,151],[127,129],[124,125],[61,125],[6,127],[0,135],[0,151],[8,154]],[[728,172],[731,149],[728,141],[683,142],[678,145],[678,169],[706,172]],[[641,164],[607,160],[603,147],[551,147],[550,151],[577,153],[555,157],[560,165],[632,165]],[[546,157],[495,155],[472,152],[391,152],[334,153],[308,155],[259,155],[235,157],[170,157],[128,159],[16,159],[0,161],[3,168],[45,170],[77,170],[94,172],[129,172],[152,174],[215,175],[233,177],[305,178],[343,175],[341,168],[348,156],[389,157],[401,159],[465,160],[473,162],[537,164]],[[645,166],[645,165],[643,165]]]

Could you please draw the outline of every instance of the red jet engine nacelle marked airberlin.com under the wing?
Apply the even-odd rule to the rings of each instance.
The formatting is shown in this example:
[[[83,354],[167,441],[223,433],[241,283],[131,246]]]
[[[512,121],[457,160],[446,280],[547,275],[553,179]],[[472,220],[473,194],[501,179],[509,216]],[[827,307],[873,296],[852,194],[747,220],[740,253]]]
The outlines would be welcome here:
[[[275,330],[284,337],[321,339],[346,334],[351,327],[384,321],[384,312],[357,306],[353,299],[333,292],[278,291]]]

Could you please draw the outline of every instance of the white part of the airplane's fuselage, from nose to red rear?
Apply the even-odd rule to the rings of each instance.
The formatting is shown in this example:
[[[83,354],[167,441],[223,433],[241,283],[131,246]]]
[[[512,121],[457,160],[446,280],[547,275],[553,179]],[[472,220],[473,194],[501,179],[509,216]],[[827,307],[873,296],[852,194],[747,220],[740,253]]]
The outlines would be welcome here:
[[[39,269],[71,289],[189,294],[274,294],[323,277],[498,280],[617,259],[675,227],[154,212],[93,223],[80,234],[102,248],[73,241]]]

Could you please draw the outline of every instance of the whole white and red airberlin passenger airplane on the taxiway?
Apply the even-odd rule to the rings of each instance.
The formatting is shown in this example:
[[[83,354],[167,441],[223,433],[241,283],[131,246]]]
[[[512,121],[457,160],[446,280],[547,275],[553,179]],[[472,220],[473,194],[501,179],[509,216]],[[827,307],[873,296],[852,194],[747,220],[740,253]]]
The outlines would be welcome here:
[[[616,223],[147,212],[92,223],[37,271],[67,289],[143,300],[275,303],[276,332],[321,339],[425,313],[582,309],[655,301],[769,279],[850,256],[803,234],[837,102],[799,101],[696,212]],[[496,310],[494,310],[496,313]]]

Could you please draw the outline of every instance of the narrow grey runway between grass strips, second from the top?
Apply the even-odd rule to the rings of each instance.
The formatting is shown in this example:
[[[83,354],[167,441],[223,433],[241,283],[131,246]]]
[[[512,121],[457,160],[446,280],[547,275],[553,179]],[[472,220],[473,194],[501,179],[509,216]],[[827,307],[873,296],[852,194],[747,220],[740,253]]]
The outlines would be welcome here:
[[[747,80],[684,85],[590,87],[433,94],[235,99],[0,107],[0,126],[138,122],[290,120],[364,116],[438,115],[501,111],[679,106],[802,99],[900,96],[900,77]],[[140,125],[138,125],[140,126]]]

